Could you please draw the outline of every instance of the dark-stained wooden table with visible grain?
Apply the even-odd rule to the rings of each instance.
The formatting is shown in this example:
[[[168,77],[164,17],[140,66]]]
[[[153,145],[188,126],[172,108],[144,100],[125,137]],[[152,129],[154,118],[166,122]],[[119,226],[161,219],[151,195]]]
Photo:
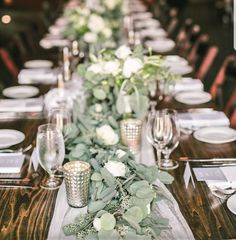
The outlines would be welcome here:
[[[201,105],[212,107],[213,103]],[[174,107],[185,109],[186,106],[175,102],[166,101],[158,105],[159,108]],[[0,128],[17,129],[25,133],[23,143],[27,146],[35,142],[37,127],[45,120],[15,120],[0,122]],[[182,135],[179,147],[172,157],[187,156],[189,158],[235,157],[236,144],[228,143],[213,145],[195,140],[192,135]],[[236,215],[231,213],[226,202],[213,196],[203,182],[196,182],[196,188],[190,184],[185,188],[183,181],[184,163],[170,171],[175,177],[172,185],[168,186],[180,210],[186,218],[196,239],[235,239]],[[37,186],[41,176],[45,173],[39,170],[34,183]],[[45,177],[45,176],[44,176]],[[2,184],[2,183],[0,183]],[[2,189],[0,188],[0,239],[47,239],[51,218],[54,211],[57,191],[43,189]]]

